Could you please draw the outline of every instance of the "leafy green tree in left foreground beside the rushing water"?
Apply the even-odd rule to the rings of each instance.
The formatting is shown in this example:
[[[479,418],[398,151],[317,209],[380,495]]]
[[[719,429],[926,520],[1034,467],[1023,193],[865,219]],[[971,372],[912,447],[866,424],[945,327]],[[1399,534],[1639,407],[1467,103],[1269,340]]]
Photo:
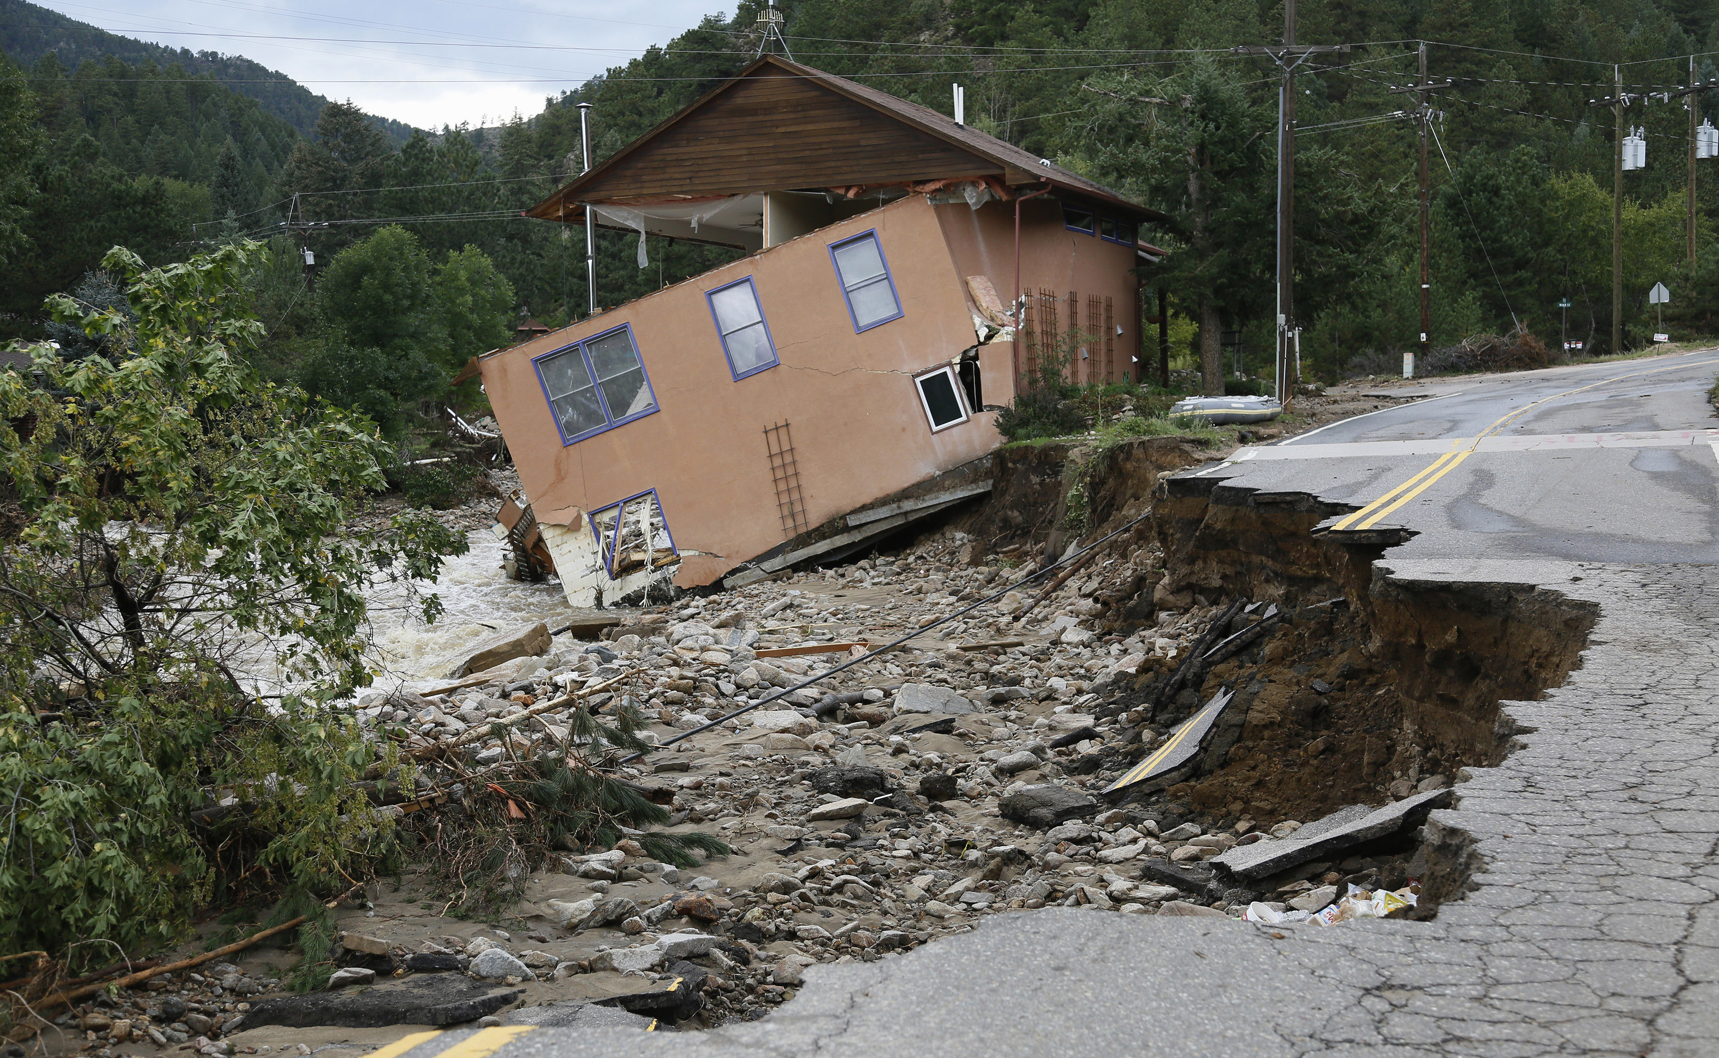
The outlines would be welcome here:
[[[115,249],[134,316],[50,304],[115,356],[0,373],[0,950],[163,945],[218,873],[327,891],[387,850],[352,783],[373,754],[323,702],[370,682],[364,589],[464,539],[349,526],[385,448],[248,368],[261,252]]]

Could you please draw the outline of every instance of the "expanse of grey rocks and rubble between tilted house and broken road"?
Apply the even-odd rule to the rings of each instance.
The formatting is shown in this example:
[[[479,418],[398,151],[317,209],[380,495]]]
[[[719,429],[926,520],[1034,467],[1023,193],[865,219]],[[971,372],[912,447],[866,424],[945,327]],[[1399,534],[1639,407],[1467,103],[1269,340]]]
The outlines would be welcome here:
[[[1123,536],[1038,599],[1045,579],[1014,587],[1038,569],[1035,555],[987,555],[944,531],[899,555],[627,613],[602,641],[523,629],[519,656],[454,689],[366,694],[352,708],[368,737],[421,759],[413,790],[378,792],[407,802],[394,811],[411,809],[411,826],[457,821],[469,799],[495,795],[490,783],[511,763],[564,752],[571,709],[607,713],[631,701],[653,721],[645,735],[660,749],[612,759],[615,775],[670,807],[669,833],[715,833],[734,854],[677,869],[648,855],[636,831],[612,848],[564,848],[521,881],[526,898],[490,927],[414,914],[445,900],[430,874],[407,873],[397,895],[378,893],[342,917],[351,931],[332,986],[464,976],[517,989],[495,1005],[519,994],[524,1008],[605,1003],[708,1025],[756,1018],[792,998],[810,965],[890,957],[1009,910],[1279,924],[1413,910],[1425,862],[1401,826],[1361,826],[1349,816],[1373,809],[1360,806],[1303,828],[1284,806],[1318,797],[1241,792],[1238,775],[1274,781],[1275,773],[1246,768],[1270,752],[1231,747],[1239,764],[1222,768],[1214,747],[1203,775],[1148,795],[1107,795],[1220,684],[1238,687],[1233,716],[1245,725],[1229,742],[1239,735],[1241,745],[1300,737],[1293,718],[1274,727],[1263,706],[1343,665],[1336,678],[1348,684],[1327,685],[1331,702],[1375,706],[1361,654],[1344,646],[1358,632],[1343,615],[1332,623],[1331,606],[1274,618],[1282,629],[1246,651],[1190,666],[1196,646],[1250,627],[1263,610],[1159,593],[1186,608],[1153,611],[1157,565],[1152,544]],[[997,593],[957,622],[873,653]],[[1317,666],[1284,661],[1282,644],[1318,654],[1317,637],[1329,641]],[[858,663],[729,716],[847,661]],[[1164,694],[1184,666],[1181,689]],[[1267,690],[1274,680],[1298,687]],[[488,727],[497,721],[505,727]],[[1367,768],[1391,778],[1382,763]],[[1344,836],[1349,823],[1361,838]],[[248,1010],[241,1003],[220,993],[191,1001],[187,1012],[206,1024],[163,1022],[175,1012],[146,1006],[125,1008],[129,1018],[83,1017],[129,1020],[131,1041],[153,1041],[155,1027],[168,1046],[201,1036],[198,1049],[225,1053],[223,1031],[258,1024],[260,1015],[236,1022]],[[91,1032],[86,1049],[124,1043]],[[246,1039],[237,1049],[256,1048]]]

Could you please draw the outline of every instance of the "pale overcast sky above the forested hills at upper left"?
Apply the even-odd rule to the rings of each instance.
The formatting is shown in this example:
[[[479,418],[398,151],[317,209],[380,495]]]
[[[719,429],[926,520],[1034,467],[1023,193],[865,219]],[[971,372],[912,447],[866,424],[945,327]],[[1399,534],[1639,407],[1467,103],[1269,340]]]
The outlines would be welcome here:
[[[732,0],[36,2],[110,33],[244,55],[421,129],[529,117],[543,96],[732,10]]]

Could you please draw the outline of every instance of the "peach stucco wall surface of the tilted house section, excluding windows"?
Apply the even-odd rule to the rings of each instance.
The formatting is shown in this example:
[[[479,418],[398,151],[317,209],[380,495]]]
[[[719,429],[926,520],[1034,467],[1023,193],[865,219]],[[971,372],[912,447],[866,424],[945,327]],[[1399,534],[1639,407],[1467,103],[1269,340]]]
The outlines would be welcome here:
[[[902,316],[854,333],[829,246],[866,230],[887,256]],[[734,381],[705,295],[746,277],[780,362]],[[622,323],[660,410],[564,447],[531,361]],[[483,380],[536,510],[590,512],[657,489],[682,551],[676,582],[694,586],[789,536],[765,438],[772,424],[791,424],[796,522],[808,526],[995,447],[990,414],[933,435],[913,385],[975,340],[932,206],[911,196],[493,354]],[[987,356],[1007,357],[1007,347]]]

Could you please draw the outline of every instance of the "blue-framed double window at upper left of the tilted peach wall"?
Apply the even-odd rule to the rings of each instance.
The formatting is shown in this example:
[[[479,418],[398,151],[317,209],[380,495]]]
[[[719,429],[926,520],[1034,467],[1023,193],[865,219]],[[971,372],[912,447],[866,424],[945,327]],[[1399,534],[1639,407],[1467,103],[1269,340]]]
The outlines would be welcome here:
[[[571,445],[657,410],[633,328],[621,325],[531,361],[560,443]]]

